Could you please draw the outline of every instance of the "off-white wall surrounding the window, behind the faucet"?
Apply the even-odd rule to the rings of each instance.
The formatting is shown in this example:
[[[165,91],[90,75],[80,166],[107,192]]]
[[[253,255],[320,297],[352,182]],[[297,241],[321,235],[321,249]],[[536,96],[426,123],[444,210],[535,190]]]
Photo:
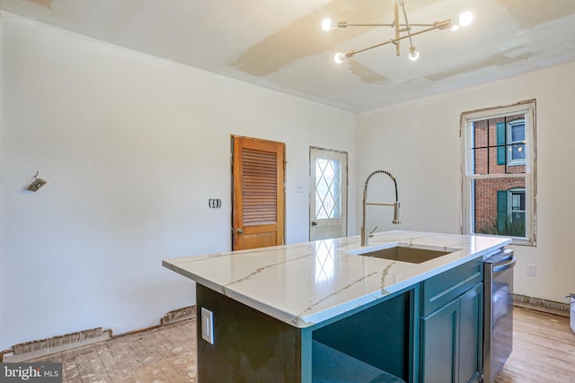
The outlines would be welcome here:
[[[374,170],[374,163],[383,164],[398,178],[402,229],[457,233],[461,113],[536,99],[537,246],[514,247],[515,288],[519,294],[562,301],[568,292],[575,292],[574,88],[575,62],[571,62],[360,114],[358,179]],[[386,223],[390,212],[370,213],[371,226],[392,229]],[[537,266],[535,277],[526,276],[526,264]]]

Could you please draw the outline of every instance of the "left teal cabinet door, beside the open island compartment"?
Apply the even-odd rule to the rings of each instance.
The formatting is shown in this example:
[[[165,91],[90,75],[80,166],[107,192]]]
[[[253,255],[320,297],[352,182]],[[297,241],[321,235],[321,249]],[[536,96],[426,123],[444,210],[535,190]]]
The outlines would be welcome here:
[[[459,300],[422,319],[421,381],[456,383]]]

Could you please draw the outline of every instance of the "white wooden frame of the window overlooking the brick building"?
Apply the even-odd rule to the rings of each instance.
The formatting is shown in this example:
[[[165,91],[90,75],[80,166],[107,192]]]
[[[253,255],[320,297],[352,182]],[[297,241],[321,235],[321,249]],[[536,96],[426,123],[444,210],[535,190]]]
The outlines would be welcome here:
[[[474,121],[481,121],[488,118],[500,118],[504,116],[513,116],[525,114],[525,150],[526,161],[525,173],[506,173],[506,174],[473,174],[473,132],[471,129]],[[479,109],[464,112],[461,114],[460,121],[460,138],[462,141],[462,208],[461,224],[462,234],[474,234],[473,222],[475,221],[474,209],[474,190],[473,180],[489,178],[517,178],[525,179],[526,190],[526,235],[525,237],[511,237],[514,245],[536,246],[536,143],[535,143],[535,100],[525,100],[517,104]],[[506,126],[507,128],[507,126]],[[509,165],[508,165],[509,166]],[[485,235],[485,234],[482,234]]]

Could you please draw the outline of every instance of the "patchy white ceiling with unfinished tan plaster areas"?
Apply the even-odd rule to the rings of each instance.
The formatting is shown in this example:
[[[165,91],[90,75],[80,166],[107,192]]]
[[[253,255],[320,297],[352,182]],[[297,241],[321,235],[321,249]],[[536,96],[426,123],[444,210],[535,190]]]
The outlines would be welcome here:
[[[85,36],[354,112],[575,60],[575,0],[409,0],[409,21],[456,20],[395,56],[387,45],[336,65],[334,53],[391,28],[324,32],[323,18],[393,21],[394,0],[0,0],[0,9]]]

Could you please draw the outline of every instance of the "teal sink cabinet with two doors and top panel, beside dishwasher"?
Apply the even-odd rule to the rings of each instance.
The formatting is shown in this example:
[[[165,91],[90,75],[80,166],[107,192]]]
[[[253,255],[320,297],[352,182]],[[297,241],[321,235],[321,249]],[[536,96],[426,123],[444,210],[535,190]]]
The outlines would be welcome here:
[[[423,284],[420,379],[479,382],[482,371],[482,265],[471,262]]]

